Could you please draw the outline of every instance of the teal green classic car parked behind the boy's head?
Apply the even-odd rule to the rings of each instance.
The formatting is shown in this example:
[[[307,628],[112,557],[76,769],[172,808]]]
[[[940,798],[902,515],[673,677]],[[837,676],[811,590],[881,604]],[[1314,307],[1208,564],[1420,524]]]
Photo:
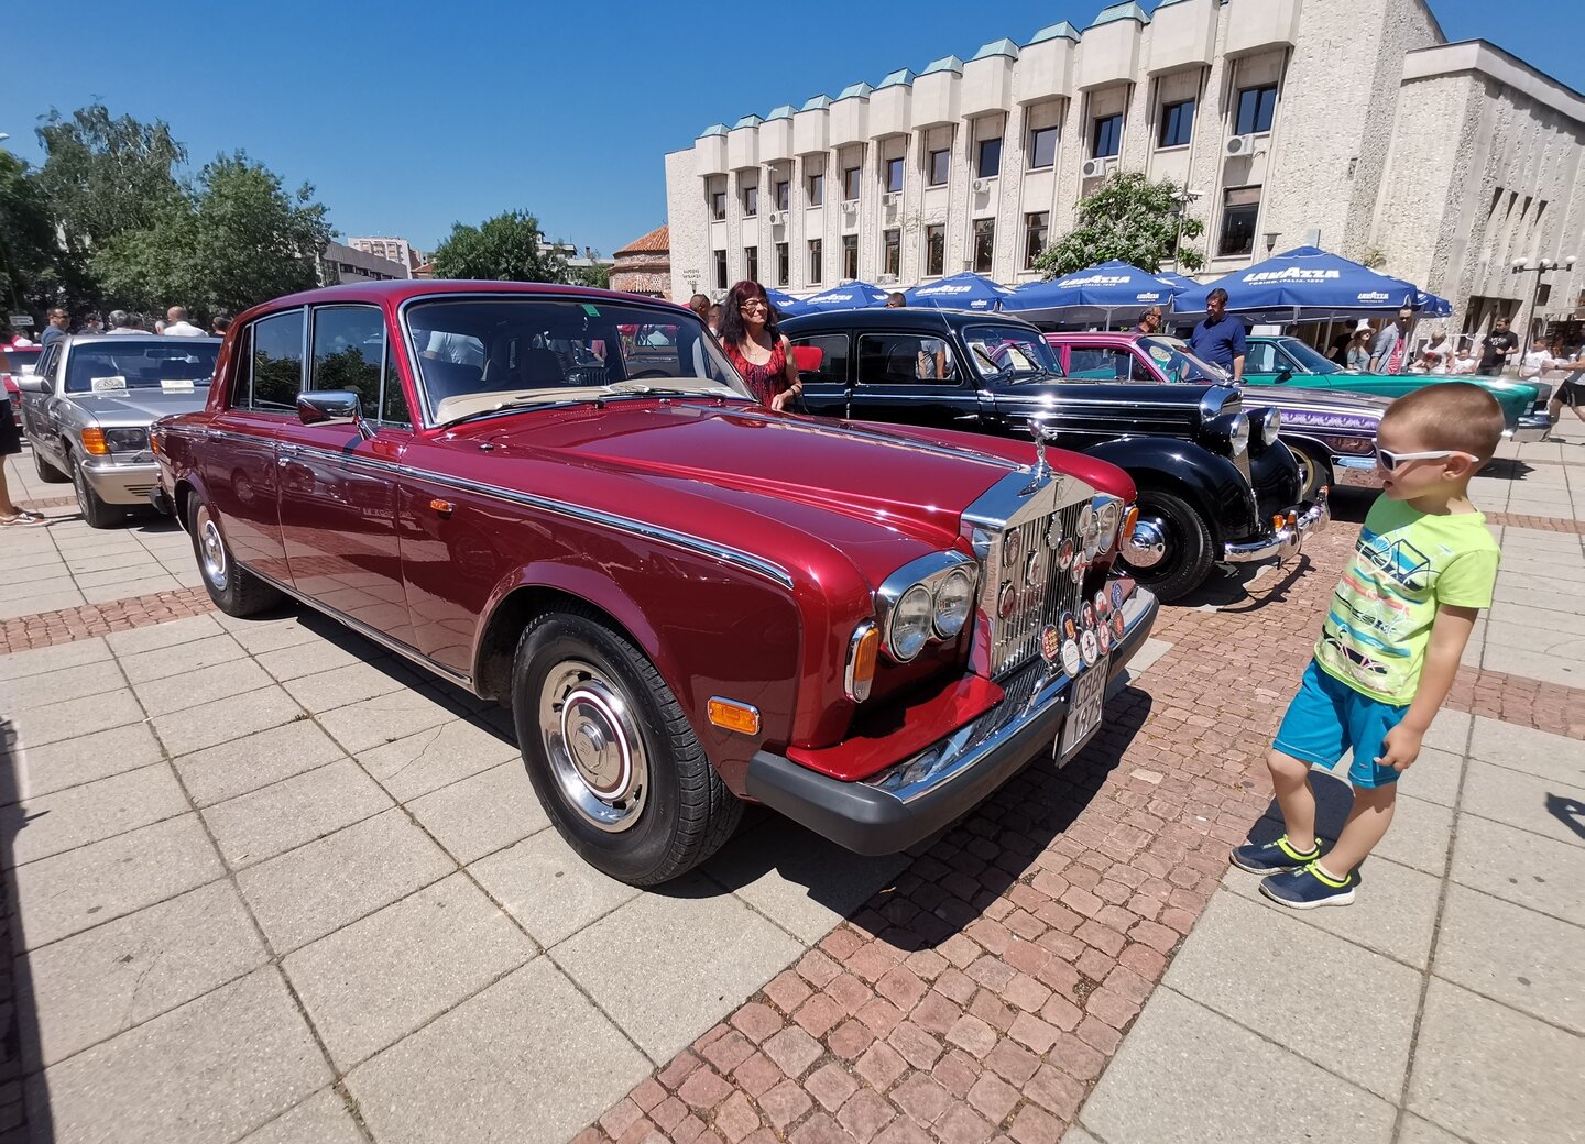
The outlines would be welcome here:
[[[1251,336],[1244,357],[1246,385],[1284,385],[1306,390],[1336,390],[1377,398],[1401,398],[1439,382],[1474,382],[1484,387],[1503,406],[1503,434],[1512,440],[1545,440],[1552,433],[1547,417],[1547,393],[1530,382],[1509,382],[1501,377],[1442,376],[1442,374],[1357,374],[1344,369],[1323,353],[1311,349],[1298,337]]]

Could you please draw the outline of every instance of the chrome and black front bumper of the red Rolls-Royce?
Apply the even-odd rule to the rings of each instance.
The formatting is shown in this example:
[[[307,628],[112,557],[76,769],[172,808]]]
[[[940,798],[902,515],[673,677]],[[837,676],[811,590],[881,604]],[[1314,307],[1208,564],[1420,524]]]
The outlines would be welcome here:
[[[1106,659],[1108,683],[1138,653],[1159,610],[1144,588],[1124,601],[1124,634]],[[748,764],[748,795],[857,854],[907,849],[978,807],[1041,751],[1054,749],[1084,675],[1070,680],[1048,670],[1037,658],[1005,681],[1006,696],[994,708],[862,781],[845,783],[759,751]],[[1070,757],[1081,748],[1076,743]]]

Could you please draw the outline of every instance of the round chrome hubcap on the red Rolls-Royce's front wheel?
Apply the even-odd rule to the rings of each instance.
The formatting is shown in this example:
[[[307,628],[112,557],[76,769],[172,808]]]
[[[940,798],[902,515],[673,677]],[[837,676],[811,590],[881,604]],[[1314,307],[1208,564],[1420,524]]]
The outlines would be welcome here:
[[[593,664],[558,664],[539,692],[539,730],[556,784],[590,826],[617,833],[650,792],[644,735],[621,689]]]

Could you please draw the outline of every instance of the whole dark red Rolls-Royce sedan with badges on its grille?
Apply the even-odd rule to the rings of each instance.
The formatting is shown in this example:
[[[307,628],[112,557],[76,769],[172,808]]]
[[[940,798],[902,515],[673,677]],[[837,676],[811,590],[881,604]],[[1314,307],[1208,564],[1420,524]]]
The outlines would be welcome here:
[[[281,298],[154,442],[220,610],[292,596],[506,702],[558,830],[637,886],[745,802],[861,852],[929,837],[1083,748],[1157,610],[1113,572],[1121,469],[772,412],[628,295]]]

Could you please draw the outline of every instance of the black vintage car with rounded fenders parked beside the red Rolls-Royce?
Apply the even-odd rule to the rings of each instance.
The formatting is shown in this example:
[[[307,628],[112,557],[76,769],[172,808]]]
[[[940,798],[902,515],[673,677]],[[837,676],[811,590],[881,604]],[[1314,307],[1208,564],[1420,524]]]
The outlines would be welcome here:
[[[1330,520],[1300,501],[1300,469],[1274,410],[1244,412],[1225,385],[1064,377],[1040,330],[1002,314],[861,309],[788,318],[812,414],[1005,436],[1041,433],[1138,485],[1124,558],[1171,601],[1214,562],[1295,556]]]

